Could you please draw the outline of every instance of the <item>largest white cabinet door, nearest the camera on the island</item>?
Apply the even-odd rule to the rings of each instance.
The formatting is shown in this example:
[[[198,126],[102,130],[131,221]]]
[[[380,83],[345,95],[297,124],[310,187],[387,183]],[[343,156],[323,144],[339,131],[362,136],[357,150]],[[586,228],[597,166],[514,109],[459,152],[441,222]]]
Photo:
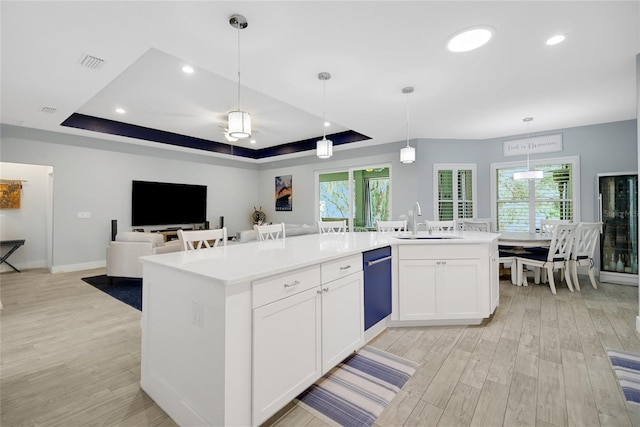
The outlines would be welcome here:
[[[253,310],[253,424],[320,377],[320,288]]]

